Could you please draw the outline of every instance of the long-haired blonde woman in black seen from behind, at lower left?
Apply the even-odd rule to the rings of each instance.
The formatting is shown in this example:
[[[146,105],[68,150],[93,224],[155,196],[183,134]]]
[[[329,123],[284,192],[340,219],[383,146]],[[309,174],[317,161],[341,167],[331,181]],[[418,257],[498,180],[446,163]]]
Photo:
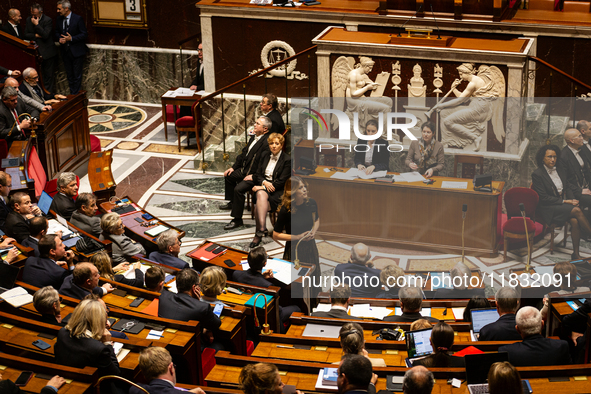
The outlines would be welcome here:
[[[98,368],[98,376],[119,375],[119,362],[107,330],[107,311],[98,300],[82,300],[55,343],[57,363]]]

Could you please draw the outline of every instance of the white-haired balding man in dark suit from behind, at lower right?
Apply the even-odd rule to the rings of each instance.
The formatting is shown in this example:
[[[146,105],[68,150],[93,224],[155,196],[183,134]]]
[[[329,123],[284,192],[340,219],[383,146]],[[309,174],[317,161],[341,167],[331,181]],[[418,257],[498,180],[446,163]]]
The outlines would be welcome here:
[[[509,362],[516,367],[565,365],[571,363],[568,343],[562,340],[544,338],[544,321],[539,310],[525,306],[515,317],[517,331],[522,342],[499,347],[499,352],[509,353]]]

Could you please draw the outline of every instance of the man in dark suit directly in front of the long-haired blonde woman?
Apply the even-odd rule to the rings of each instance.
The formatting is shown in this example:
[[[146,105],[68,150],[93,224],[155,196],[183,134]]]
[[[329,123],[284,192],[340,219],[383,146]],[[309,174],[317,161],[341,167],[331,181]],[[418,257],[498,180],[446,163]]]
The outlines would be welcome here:
[[[81,300],[91,292],[102,297],[115,290],[110,283],[99,286],[100,278],[101,274],[94,264],[78,263],[72,275],[64,279],[60,294]]]

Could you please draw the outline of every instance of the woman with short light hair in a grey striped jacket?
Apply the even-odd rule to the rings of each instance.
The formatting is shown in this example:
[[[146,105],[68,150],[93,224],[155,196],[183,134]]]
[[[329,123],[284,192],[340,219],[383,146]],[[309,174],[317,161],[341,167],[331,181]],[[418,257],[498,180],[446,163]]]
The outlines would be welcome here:
[[[108,239],[113,242],[113,262],[115,264],[124,263],[136,254],[146,254],[142,245],[125,235],[125,226],[118,213],[109,212],[103,215],[101,228],[103,233],[99,239],[101,241]]]

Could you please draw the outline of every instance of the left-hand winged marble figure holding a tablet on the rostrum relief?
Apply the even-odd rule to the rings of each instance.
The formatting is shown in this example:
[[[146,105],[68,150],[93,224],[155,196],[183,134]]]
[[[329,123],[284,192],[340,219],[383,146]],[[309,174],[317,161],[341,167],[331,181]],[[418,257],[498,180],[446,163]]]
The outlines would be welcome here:
[[[345,113],[354,120],[354,113],[359,114],[359,128],[364,129],[370,119],[378,120],[379,113],[388,113],[392,110],[392,99],[389,97],[376,97],[374,91],[382,91],[385,86],[372,81],[367,74],[373,69],[374,61],[366,56],[359,57],[359,63],[351,56],[339,57],[332,68],[332,95],[333,97],[344,97],[346,104]],[[389,73],[381,73],[380,81],[388,81]],[[367,97],[370,91],[372,97]],[[351,123],[353,124],[353,123]]]

